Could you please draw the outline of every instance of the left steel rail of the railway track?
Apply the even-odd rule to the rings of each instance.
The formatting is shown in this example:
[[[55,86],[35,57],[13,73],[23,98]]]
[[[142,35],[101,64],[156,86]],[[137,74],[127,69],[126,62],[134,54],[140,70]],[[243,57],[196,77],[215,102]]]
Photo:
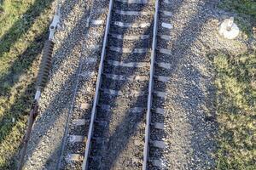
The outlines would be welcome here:
[[[109,32],[112,8],[113,8],[113,0],[110,0],[109,6],[108,6],[107,24],[106,24],[105,35],[104,35],[103,44],[102,44],[101,62],[100,62],[100,66],[99,66],[99,70],[98,70],[98,77],[97,77],[97,82],[96,82],[96,94],[95,94],[94,101],[93,101],[93,107],[92,107],[91,116],[90,116],[90,127],[89,127],[88,139],[86,141],[86,148],[85,148],[85,153],[84,153],[84,162],[83,162],[83,166],[82,166],[83,170],[87,169],[87,167],[88,167],[88,157],[90,155],[90,140],[92,138],[93,124],[96,119],[96,106],[98,105],[99,91],[100,91],[101,84],[102,84],[103,63],[104,63],[104,59],[105,59],[106,47],[107,47],[107,42],[108,42],[108,32]]]

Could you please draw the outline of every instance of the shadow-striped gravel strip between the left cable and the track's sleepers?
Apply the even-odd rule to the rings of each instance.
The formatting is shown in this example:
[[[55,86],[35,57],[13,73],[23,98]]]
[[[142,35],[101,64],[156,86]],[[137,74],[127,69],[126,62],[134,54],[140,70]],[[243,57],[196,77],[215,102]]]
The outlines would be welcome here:
[[[73,108],[79,61],[89,57],[90,43],[94,42],[86,43],[86,38],[91,38],[92,33],[85,27],[93,3],[97,2],[61,1],[62,29],[55,34],[51,78],[39,103],[40,114],[32,130],[25,169],[57,168],[62,138]]]

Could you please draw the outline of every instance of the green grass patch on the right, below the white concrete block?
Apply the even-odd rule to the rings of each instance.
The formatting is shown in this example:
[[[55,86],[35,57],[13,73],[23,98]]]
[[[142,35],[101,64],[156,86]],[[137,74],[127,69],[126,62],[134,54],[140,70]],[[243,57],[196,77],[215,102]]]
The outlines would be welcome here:
[[[256,52],[213,59],[217,71],[218,169],[256,169]]]

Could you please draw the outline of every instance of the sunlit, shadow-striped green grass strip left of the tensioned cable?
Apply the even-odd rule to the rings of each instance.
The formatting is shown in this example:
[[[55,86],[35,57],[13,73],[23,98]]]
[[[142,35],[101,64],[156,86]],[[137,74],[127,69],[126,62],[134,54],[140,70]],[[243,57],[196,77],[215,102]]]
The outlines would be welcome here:
[[[52,1],[0,1],[0,169],[16,166]]]

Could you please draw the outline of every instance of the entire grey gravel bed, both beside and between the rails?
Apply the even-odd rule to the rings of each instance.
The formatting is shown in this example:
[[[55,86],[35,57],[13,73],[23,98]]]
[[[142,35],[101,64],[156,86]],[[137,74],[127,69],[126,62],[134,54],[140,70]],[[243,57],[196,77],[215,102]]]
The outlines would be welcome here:
[[[164,140],[166,148],[164,150],[152,148],[150,156],[160,158],[163,169],[201,170],[214,169],[216,166],[212,157],[213,151],[216,150],[214,135],[218,132],[214,108],[214,70],[207,54],[216,50],[238,54],[246,51],[250,46],[241,36],[236,40],[225,40],[218,36],[218,25],[230,17],[230,14],[219,10],[217,4],[218,0],[160,1],[160,11],[170,11],[172,16],[166,18],[160,14],[159,34],[171,36],[172,39],[167,41],[160,40],[158,37],[157,48],[169,49],[172,54],[160,54],[158,51],[156,61],[170,63],[172,68],[169,71],[155,68],[155,76],[170,77],[170,80],[165,83],[154,81],[154,90],[166,92],[166,99],[154,96],[153,106],[163,108],[165,115],[157,116],[153,113],[152,122],[163,122],[165,127],[164,131],[152,132],[152,138]],[[137,10],[148,11],[148,8],[153,6],[139,7]],[[108,10],[98,15],[94,15],[93,11],[107,7],[108,1],[61,1],[62,29],[55,34],[51,78],[39,103],[40,114],[32,130],[24,169],[56,169],[57,167],[81,169],[81,161],[70,163],[65,158],[74,151],[84,155],[85,146],[80,144],[73,150],[74,147],[68,144],[68,139],[69,134],[87,134],[87,125],[78,129],[72,125],[75,120],[90,117],[90,109],[80,111],[80,107],[82,103],[92,104],[97,74],[90,79],[79,75],[97,71],[101,50],[95,50],[96,47],[93,45],[101,44],[104,31],[104,26],[92,26],[91,22],[89,27],[86,25],[89,18],[105,20],[104,14]],[[126,6],[120,2],[114,4],[114,8],[120,7],[128,9],[133,6]],[[116,19],[122,20],[122,18]],[[126,20],[125,17],[123,19]],[[150,20],[148,17],[142,17],[140,22],[144,19],[152,22],[152,18]],[[163,29],[162,22],[172,24],[172,29]],[[123,35],[151,34],[150,29],[126,28],[124,30],[113,25],[110,32]],[[151,41],[151,38],[148,41]],[[131,44],[131,48],[135,48],[136,43],[110,40],[109,44],[125,48]],[[144,42],[137,42],[137,44],[143,48],[150,47]],[[95,65],[87,63],[88,58],[92,56],[96,58]],[[108,47],[106,58],[124,62],[148,62],[149,65],[150,53],[118,54]],[[129,71],[129,68],[117,69],[108,65],[105,70],[111,74],[127,72],[129,76],[147,75],[149,72],[148,67]],[[130,89],[148,92],[146,82],[134,82],[131,85],[129,81],[111,82],[106,77],[103,77],[103,82],[107,84],[102,86],[103,88],[119,88],[124,94],[129,94]],[[107,169],[125,169],[125,167],[140,169],[142,167],[143,123],[146,111],[142,111],[141,115],[130,113],[128,110],[135,106],[145,107],[147,102],[142,96],[134,97],[129,95],[102,97],[100,100],[100,106],[113,104],[112,111],[106,111],[106,108],[100,108],[100,106],[97,109],[99,119],[106,118],[111,121],[108,122],[108,129],[105,129],[108,134],[106,134],[107,143],[104,147],[108,146],[108,150],[96,153],[96,156],[101,154],[105,156],[102,163]],[[131,122],[134,122],[134,126]],[[97,127],[100,130],[98,132],[105,132],[100,129],[100,126]],[[84,134],[85,139],[86,134]],[[94,149],[97,147],[93,144]],[[91,161],[92,168],[96,163],[97,160]]]

